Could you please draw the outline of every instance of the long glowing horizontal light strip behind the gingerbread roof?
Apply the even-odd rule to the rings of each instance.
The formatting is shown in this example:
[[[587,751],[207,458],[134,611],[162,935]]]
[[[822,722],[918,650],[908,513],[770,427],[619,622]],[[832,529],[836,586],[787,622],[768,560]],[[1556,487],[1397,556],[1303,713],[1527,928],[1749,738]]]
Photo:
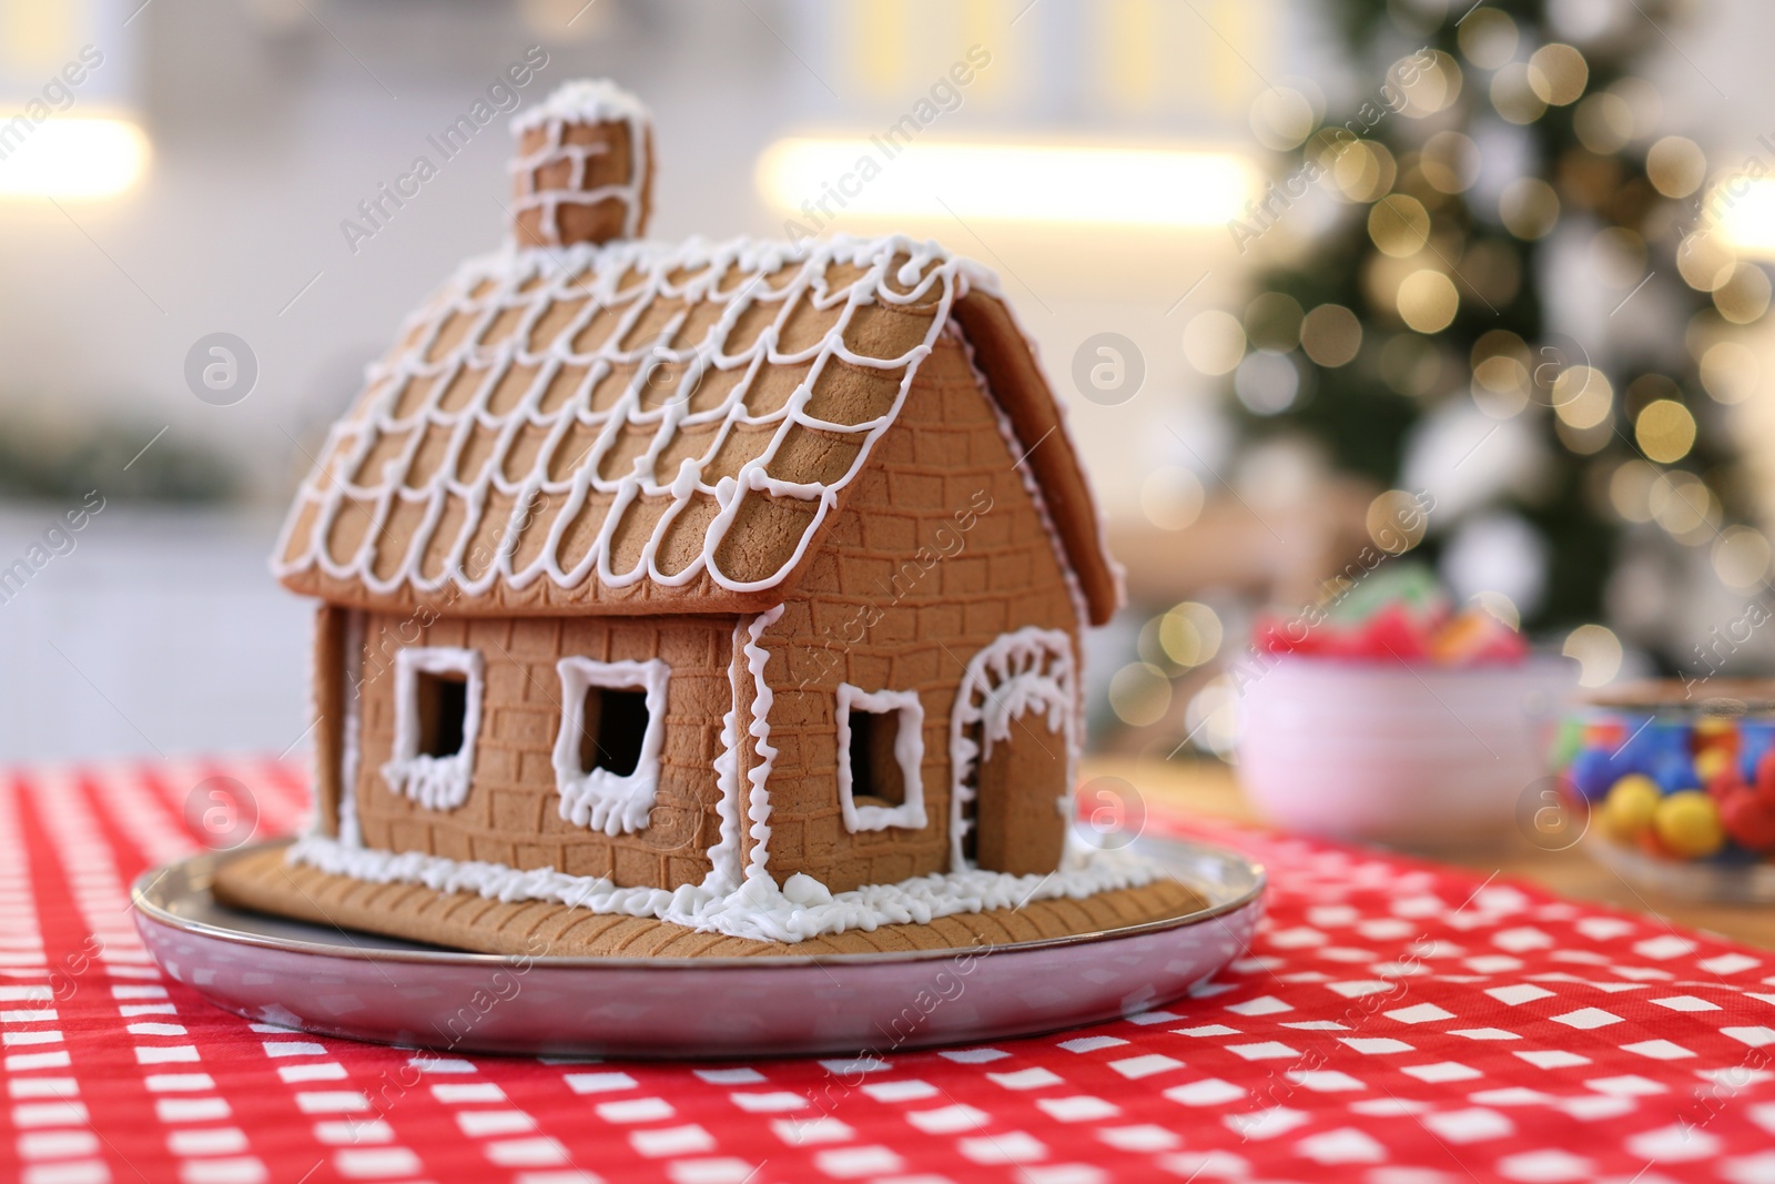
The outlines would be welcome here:
[[[756,181],[809,231],[843,217],[1218,227],[1257,195],[1250,165],[1227,153],[912,142],[889,160],[872,138],[777,140]]]

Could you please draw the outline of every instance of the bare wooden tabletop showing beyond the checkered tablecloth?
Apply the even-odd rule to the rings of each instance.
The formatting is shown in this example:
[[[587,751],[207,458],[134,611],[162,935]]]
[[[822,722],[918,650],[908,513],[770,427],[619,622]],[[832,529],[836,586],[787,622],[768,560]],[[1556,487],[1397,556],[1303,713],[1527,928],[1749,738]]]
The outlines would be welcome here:
[[[1189,815],[1241,824],[1262,822],[1257,808],[1239,790],[1232,769],[1219,762],[1086,762],[1085,777],[1093,776],[1122,777],[1141,793],[1152,793],[1168,808]],[[1512,834],[1503,843],[1436,850],[1427,857],[1479,875],[1496,872],[1503,879],[1539,884],[1567,900],[1592,900],[1775,950],[1775,905],[1699,904],[1645,893],[1590,859],[1583,843],[1567,850],[1541,850]]]

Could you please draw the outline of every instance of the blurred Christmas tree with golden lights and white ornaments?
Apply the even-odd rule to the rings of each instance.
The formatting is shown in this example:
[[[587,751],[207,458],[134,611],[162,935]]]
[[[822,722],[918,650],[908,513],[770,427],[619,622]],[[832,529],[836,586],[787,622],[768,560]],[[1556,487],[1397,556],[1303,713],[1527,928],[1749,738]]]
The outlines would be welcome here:
[[[1237,327],[1207,314],[1248,343],[1246,447],[1306,440],[1374,479],[1390,492],[1370,522],[1429,488],[1420,545],[1457,591],[1541,632],[1612,620],[1660,666],[1693,666],[1658,612],[1621,609],[1622,570],[1672,582],[1700,556],[1766,588],[1768,541],[1734,525],[1748,499],[1724,405],[1755,382],[1729,330],[1764,314],[1770,282],[1704,206],[1700,147],[1663,135],[1631,73],[1672,5],[1331,11],[1372,83],[1331,115],[1310,83],[1258,99],[1287,179],[1234,236],[1298,238],[1317,190],[1338,211],[1258,275]]]

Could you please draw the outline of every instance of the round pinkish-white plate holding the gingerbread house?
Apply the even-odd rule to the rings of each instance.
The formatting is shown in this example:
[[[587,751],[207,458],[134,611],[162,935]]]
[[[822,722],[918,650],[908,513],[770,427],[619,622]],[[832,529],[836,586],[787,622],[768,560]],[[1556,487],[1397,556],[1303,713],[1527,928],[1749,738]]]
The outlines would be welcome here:
[[[1246,951],[1262,916],[1260,864],[1198,843],[1140,850],[1209,907],[1079,937],[916,953],[460,953],[227,909],[209,882],[240,852],[144,873],[131,898],[167,975],[238,1015],[320,1035],[532,1056],[895,1053],[1143,1012]]]

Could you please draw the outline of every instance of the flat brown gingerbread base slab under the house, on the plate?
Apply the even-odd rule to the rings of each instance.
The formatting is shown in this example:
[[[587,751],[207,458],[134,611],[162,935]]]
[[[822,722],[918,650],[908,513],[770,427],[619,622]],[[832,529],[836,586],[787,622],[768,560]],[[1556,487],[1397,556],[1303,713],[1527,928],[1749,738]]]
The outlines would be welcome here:
[[[367,884],[284,859],[284,847],[250,850],[222,863],[215,895],[236,909],[312,925],[366,930],[451,950],[513,957],[746,959],[831,953],[973,950],[1100,934],[1200,912],[1203,896],[1175,880],[1106,891],[1085,900],[1031,900],[937,918],[930,925],[882,925],[809,937],[793,944],[706,934],[653,918],[596,914],[563,904],[502,904],[414,884]]]

